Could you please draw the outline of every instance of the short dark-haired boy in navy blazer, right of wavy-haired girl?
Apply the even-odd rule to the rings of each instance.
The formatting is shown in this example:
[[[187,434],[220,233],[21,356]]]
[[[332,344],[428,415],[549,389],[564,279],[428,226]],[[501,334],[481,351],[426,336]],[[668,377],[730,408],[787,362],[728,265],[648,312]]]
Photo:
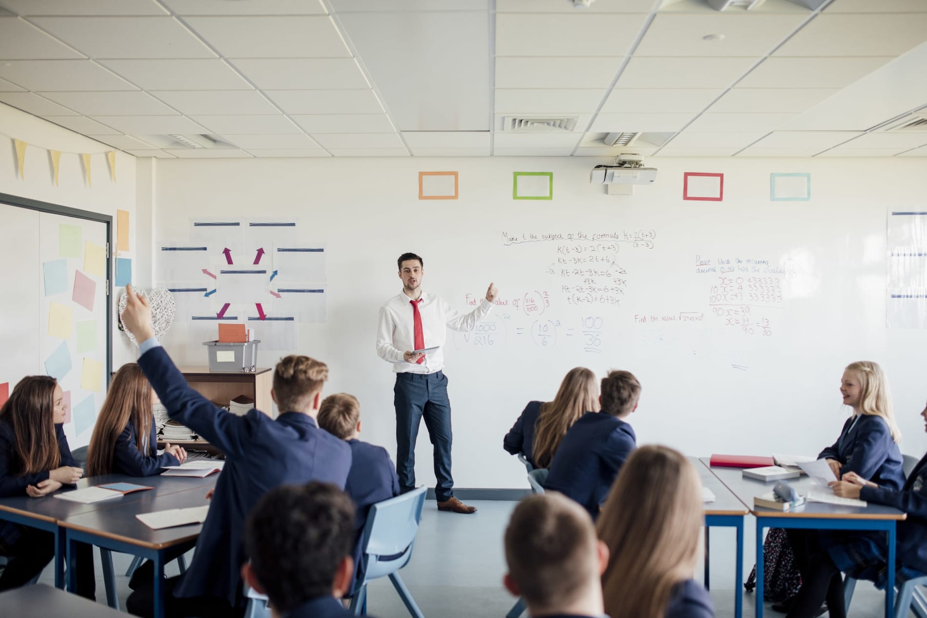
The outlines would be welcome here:
[[[637,410],[641,383],[631,372],[608,372],[602,410],[587,412],[566,432],[544,486],[581,504],[594,520],[625,460],[637,446],[625,421]]]

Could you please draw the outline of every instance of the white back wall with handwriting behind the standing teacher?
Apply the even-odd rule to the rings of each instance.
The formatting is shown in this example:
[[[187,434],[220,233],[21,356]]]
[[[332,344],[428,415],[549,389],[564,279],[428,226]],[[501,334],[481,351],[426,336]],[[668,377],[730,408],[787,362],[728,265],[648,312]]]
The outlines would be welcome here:
[[[523,469],[502,451],[502,435],[528,399],[551,398],[578,364],[600,375],[610,368],[639,375],[644,391],[631,423],[641,443],[667,443],[692,455],[816,454],[844,419],[837,396],[844,365],[875,359],[889,372],[903,450],[920,455],[927,448],[917,417],[927,396],[927,333],[885,329],[883,298],[885,211],[924,209],[924,160],[652,159],[657,182],[630,197],[604,195],[601,185],[588,183],[597,162],[603,161],[159,160],[155,236],[158,243],[186,240],[193,216],[297,216],[303,240],[327,244],[329,300],[328,322],[301,325],[295,351],[329,364],[326,392],[358,395],[363,437],[393,453],[393,378],[374,340],[377,309],[400,291],[396,257],[406,250],[423,255],[425,289],[459,309],[490,281],[510,303],[550,290],[549,315],[564,322],[556,347],[532,345],[526,336],[532,318],[511,304],[493,313],[507,333],[501,345],[476,347],[449,334],[457,486],[526,485]],[[460,199],[418,200],[419,170],[459,170]],[[514,201],[514,170],[553,171],[554,199]],[[682,201],[683,171],[724,172],[724,201]],[[770,202],[770,171],[811,172],[813,201]],[[619,307],[570,306],[557,277],[545,272],[556,259],[552,245],[502,245],[503,232],[615,230],[657,231],[652,252],[621,247],[629,284]],[[741,334],[710,314],[710,282],[694,273],[696,255],[770,259],[795,272],[783,286],[783,308],[769,312],[774,336]],[[705,320],[691,329],[634,320],[683,310],[702,311]],[[569,325],[579,334],[584,315],[608,324],[602,354],[565,338]],[[180,362],[201,365],[205,338],[178,323],[165,343]],[[280,355],[262,352],[260,365],[272,366]],[[423,426],[419,482],[433,483],[430,450]]]

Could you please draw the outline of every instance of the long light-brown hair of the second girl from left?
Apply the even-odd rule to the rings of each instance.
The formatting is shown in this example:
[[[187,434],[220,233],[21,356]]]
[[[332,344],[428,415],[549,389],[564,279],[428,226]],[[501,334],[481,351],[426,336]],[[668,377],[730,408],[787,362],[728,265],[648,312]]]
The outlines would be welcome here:
[[[109,384],[103,409],[96,417],[94,435],[87,448],[87,476],[112,473],[116,439],[132,424],[135,447],[148,455],[151,436],[151,385],[138,363],[122,365]]]

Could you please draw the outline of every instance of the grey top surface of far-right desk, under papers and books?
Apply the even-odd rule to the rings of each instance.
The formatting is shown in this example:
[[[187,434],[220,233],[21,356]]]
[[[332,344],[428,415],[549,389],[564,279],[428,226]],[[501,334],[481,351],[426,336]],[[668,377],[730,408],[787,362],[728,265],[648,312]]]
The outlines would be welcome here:
[[[762,496],[772,491],[774,481],[758,481],[752,478],[743,477],[743,468],[722,468],[719,466],[709,466],[710,458],[701,458],[711,473],[724,484],[737,498],[747,505],[747,508],[757,516],[761,517],[798,517],[798,518],[816,518],[816,519],[866,519],[866,520],[903,520],[908,517],[905,513],[885,507],[880,504],[870,504],[866,507],[844,507],[835,504],[825,504],[823,502],[806,502],[797,509],[792,511],[774,511],[763,507],[754,506],[754,498]],[[805,492],[814,486],[814,481],[806,475],[800,478],[788,479],[789,485],[804,495]]]

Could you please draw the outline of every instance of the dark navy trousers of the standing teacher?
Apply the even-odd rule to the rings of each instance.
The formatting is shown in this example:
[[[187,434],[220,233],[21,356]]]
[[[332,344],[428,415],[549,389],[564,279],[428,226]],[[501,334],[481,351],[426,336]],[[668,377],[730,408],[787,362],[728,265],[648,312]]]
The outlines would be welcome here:
[[[451,478],[451,400],[444,372],[397,373],[393,403],[396,406],[396,473],[400,490],[415,488],[415,440],[425,418],[428,437],[434,445],[435,497],[438,502],[453,497]]]

